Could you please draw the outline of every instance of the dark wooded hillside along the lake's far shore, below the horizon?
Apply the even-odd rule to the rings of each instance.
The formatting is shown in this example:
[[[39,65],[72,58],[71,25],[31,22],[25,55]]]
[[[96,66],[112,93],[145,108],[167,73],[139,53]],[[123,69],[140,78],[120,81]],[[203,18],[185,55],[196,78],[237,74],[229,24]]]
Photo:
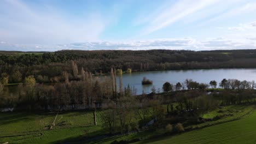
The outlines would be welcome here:
[[[126,71],[255,68],[256,50],[147,50],[147,51],[79,51],[56,52],[0,52],[2,83],[24,82],[34,75],[37,82],[61,81],[63,71],[72,74],[71,61],[78,70],[92,74],[109,74],[111,68]],[[69,77],[73,79],[74,77]],[[8,79],[8,82],[7,82]]]

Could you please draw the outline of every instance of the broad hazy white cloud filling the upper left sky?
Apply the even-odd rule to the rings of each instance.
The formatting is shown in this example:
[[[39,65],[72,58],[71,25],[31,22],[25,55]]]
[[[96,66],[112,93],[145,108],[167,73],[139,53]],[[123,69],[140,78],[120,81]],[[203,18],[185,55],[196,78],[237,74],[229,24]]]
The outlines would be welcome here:
[[[100,11],[68,17],[63,11],[22,1],[0,2],[0,39],[21,44],[59,44],[97,40],[110,20]]]

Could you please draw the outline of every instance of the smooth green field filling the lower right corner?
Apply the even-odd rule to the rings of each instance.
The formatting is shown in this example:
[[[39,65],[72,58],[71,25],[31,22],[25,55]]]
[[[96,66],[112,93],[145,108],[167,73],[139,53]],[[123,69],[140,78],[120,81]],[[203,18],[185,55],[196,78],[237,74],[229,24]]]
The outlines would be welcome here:
[[[240,120],[138,143],[256,143],[256,111]]]

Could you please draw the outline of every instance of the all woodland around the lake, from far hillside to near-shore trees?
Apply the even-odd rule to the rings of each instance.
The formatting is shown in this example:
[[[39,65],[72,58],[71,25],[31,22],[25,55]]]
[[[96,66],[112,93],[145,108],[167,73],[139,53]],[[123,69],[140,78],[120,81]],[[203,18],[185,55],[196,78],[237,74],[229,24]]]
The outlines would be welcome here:
[[[0,57],[1,111],[101,109],[100,118],[109,133],[129,133],[152,119],[154,129],[166,127],[179,133],[183,125],[218,119],[202,118],[217,107],[256,100],[254,81],[223,79],[218,85],[214,80],[187,79],[175,85],[163,83],[163,92],[153,87],[151,93],[137,95],[136,88],[123,87],[121,79],[123,71],[255,67],[254,50],[5,52]],[[110,76],[97,76],[104,73]],[[19,83],[18,94],[4,89],[8,83]],[[142,85],[150,83],[146,77],[142,80]]]

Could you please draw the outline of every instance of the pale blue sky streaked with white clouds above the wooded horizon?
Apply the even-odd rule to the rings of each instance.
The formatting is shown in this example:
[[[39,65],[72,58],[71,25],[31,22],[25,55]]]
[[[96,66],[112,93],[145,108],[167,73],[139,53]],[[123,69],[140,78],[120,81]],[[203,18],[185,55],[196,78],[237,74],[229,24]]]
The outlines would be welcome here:
[[[150,49],[256,49],[256,1],[0,1],[0,50]]]

